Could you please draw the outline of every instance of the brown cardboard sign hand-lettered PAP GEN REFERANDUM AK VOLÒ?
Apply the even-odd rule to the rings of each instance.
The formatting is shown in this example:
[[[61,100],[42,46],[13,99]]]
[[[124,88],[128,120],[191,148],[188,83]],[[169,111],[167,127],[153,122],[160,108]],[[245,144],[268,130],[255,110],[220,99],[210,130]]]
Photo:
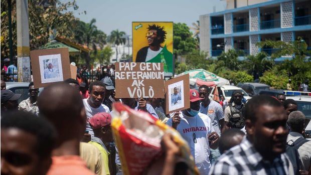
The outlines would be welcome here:
[[[164,98],[162,63],[115,63],[116,98]]]

